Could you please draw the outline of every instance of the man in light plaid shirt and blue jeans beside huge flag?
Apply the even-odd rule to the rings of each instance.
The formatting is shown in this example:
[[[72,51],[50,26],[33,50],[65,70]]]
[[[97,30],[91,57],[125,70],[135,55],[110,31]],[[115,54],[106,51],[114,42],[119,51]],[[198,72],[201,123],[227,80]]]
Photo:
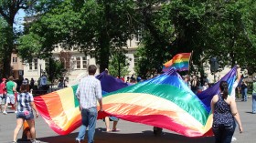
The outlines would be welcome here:
[[[93,143],[96,120],[98,116],[97,101],[100,104],[100,110],[102,111],[102,96],[101,96],[101,82],[94,77],[97,67],[91,65],[88,67],[89,76],[80,79],[79,86],[77,88],[76,96],[80,101],[81,121],[79,136],[76,138],[76,142],[80,143],[80,140],[84,139],[86,128],[88,129],[88,143]]]

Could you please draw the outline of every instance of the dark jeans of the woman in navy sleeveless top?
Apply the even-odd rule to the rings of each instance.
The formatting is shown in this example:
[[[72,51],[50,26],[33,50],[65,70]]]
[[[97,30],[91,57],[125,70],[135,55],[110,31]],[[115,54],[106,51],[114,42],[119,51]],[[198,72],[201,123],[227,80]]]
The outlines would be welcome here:
[[[224,125],[220,124],[212,127],[215,136],[215,143],[230,143],[235,132],[236,122],[233,124]]]

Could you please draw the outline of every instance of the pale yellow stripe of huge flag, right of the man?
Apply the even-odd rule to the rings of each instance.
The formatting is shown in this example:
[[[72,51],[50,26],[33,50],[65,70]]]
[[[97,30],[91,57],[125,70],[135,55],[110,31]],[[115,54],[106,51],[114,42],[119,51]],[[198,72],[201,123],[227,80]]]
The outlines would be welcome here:
[[[152,102],[154,101],[154,102]],[[155,97],[150,94],[142,94],[142,93],[118,93],[112,96],[104,97],[103,98],[103,105],[104,104],[131,104],[131,107],[133,105],[138,105],[142,107],[147,108],[153,108],[157,110],[165,110],[165,111],[174,111],[176,112],[176,117],[171,117],[176,120],[178,120],[179,123],[184,125],[185,127],[192,128],[194,130],[197,130],[201,133],[205,133],[205,127],[197,121],[195,117],[192,117],[190,114],[187,113],[183,108],[178,107],[175,103],[166,100],[161,97]],[[103,107],[104,108],[104,107]],[[122,108],[115,107],[116,110],[114,112],[123,114]],[[113,108],[106,109],[106,111],[113,111]],[[125,112],[128,113],[128,112]],[[145,114],[146,115],[146,114]],[[165,115],[167,117],[170,117],[169,115]]]

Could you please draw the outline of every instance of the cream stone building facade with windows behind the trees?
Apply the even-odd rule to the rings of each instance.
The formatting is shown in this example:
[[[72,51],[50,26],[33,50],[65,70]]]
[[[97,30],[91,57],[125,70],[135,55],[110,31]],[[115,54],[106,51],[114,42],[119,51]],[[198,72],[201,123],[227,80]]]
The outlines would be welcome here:
[[[129,67],[130,71],[129,75],[134,74],[134,66],[135,66],[135,52],[138,47],[139,41],[137,38],[133,38],[132,40],[127,40],[127,46],[123,47],[127,51],[125,54],[127,58],[129,58]],[[87,76],[87,68],[89,65],[96,65],[95,58],[91,58],[91,56],[85,56],[83,53],[80,53],[78,50],[65,50],[60,45],[56,45],[54,50],[52,51],[52,57],[56,60],[61,61],[64,64],[67,72],[63,74],[63,77],[69,79],[69,85],[75,85],[79,82],[81,77]],[[47,61],[43,59],[33,58],[31,63],[23,63],[24,70],[24,78],[31,79],[37,81],[46,70]],[[96,65],[99,67],[99,65]],[[96,72],[99,73],[99,68]],[[127,75],[127,76],[129,76]]]

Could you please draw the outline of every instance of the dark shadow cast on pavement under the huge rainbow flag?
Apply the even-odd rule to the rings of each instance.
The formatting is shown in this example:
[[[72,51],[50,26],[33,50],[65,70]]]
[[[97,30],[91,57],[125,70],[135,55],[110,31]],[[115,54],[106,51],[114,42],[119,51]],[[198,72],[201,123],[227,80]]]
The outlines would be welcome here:
[[[55,136],[46,138],[37,138],[42,142],[47,143],[75,143],[75,138],[78,133],[71,133],[66,136]],[[142,133],[129,133],[125,134],[121,132],[106,132],[105,129],[96,128],[95,143],[213,143],[214,138],[187,138],[184,136],[176,135],[173,133],[164,132],[160,137],[155,137],[152,130],[145,130]],[[87,140],[82,141],[87,143]]]

